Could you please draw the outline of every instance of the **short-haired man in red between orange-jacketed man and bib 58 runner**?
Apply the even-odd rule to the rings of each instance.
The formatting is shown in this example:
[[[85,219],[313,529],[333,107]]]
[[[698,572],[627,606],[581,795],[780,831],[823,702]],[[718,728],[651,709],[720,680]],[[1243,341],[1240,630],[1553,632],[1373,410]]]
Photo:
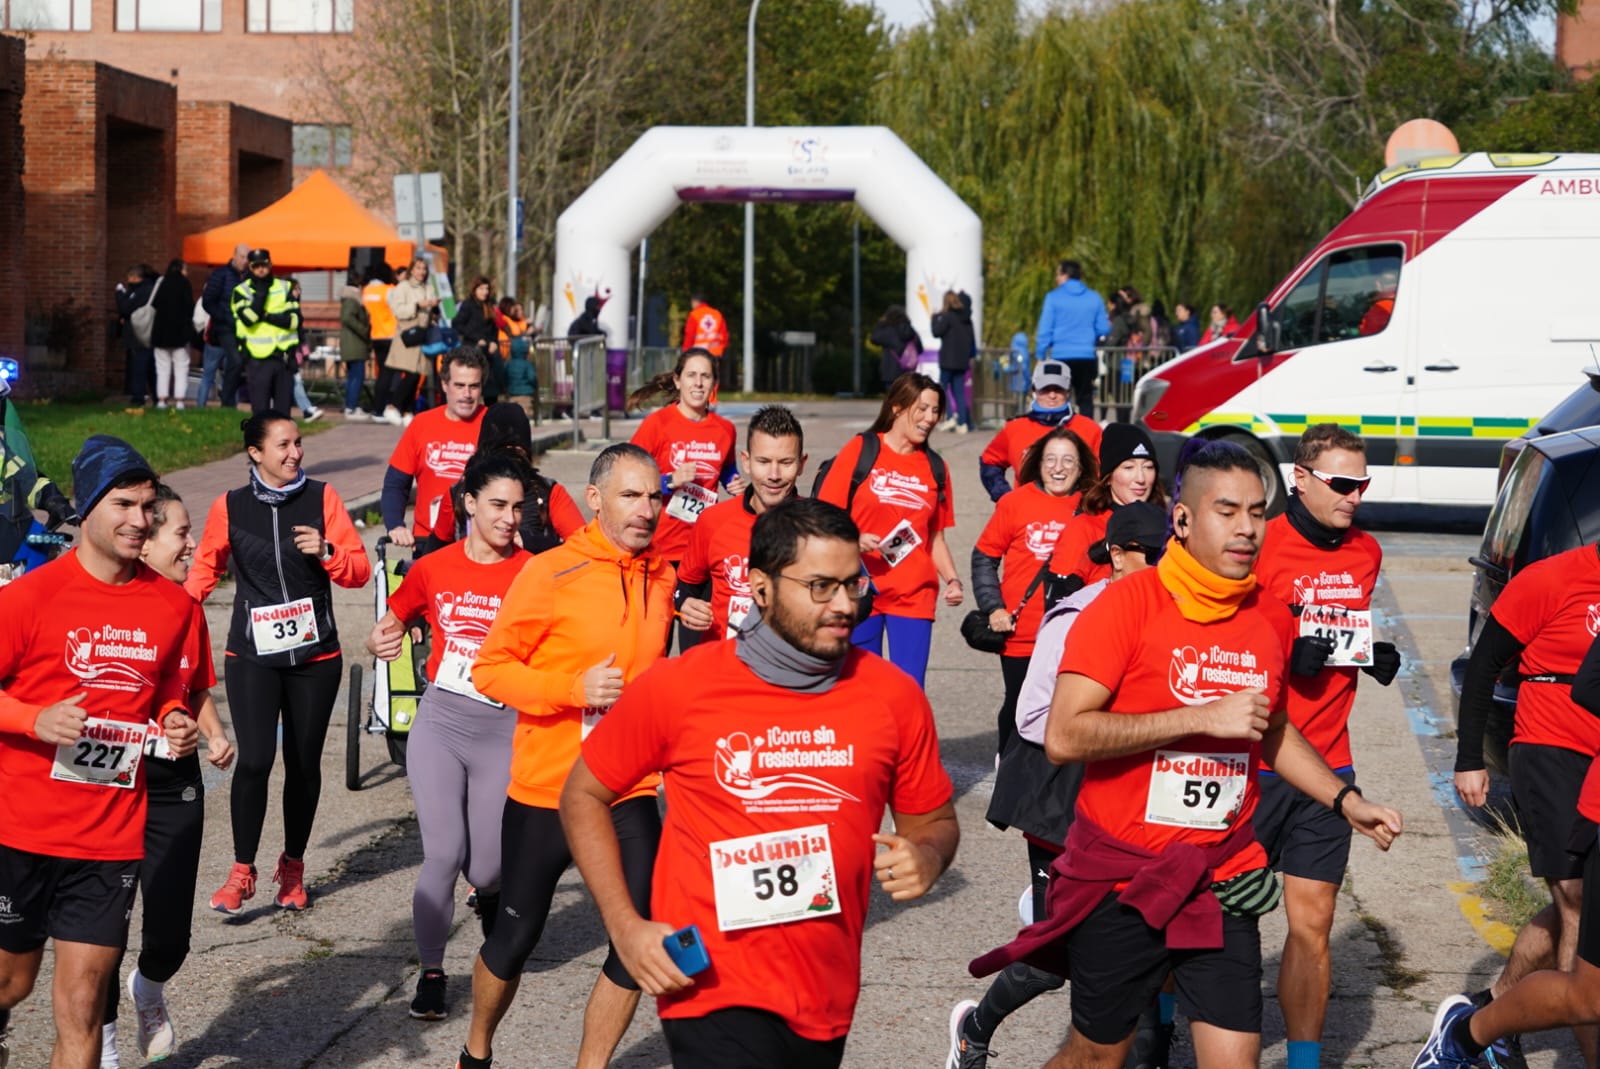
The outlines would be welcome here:
[[[685,627],[680,647],[731,639],[750,615],[750,528],[755,517],[795,493],[805,470],[800,421],[782,405],[758,410],[746,429],[739,461],[749,485],[738,498],[701,514],[678,565],[678,619]]]

